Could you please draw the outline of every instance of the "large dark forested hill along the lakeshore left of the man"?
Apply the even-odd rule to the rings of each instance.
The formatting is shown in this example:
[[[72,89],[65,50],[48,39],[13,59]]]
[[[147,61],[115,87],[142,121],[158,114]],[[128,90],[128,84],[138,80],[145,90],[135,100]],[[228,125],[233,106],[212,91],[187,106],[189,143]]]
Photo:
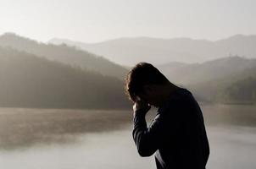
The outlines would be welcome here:
[[[123,85],[114,77],[0,47],[0,106],[127,108]]]

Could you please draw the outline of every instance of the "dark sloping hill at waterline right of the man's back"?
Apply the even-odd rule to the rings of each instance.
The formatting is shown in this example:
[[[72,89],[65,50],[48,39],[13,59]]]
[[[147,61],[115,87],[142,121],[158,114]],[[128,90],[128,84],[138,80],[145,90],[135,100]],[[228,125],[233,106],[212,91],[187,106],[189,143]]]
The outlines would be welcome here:
[[[188,85],[204,101],[221,103],[256,103],[255,95],[256,66],[241,72],[229,74],[221,79]],[[247,95],[247,99],[245,99]]]

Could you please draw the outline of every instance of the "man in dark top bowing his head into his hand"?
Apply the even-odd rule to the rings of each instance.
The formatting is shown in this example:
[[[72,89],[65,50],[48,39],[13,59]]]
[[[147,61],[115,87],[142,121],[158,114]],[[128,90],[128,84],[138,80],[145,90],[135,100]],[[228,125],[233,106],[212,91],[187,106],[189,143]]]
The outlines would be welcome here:
[[[209,142],[203,114],[192,93],[178,87],[149,63],[138,63],[126,77],[125,91],[134,102],[133,139],[139,155],[155,154],[158,169],[204,169]],[[158,108],[147,128],[145,115]]]

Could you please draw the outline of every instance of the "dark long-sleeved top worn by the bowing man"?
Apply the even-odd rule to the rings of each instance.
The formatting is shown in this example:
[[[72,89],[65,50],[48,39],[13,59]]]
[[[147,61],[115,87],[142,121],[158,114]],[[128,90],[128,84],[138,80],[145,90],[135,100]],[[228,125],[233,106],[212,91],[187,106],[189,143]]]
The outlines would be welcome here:
[[[142,111],[142,110],[139,110]],[[155,153],[158,169],[204,169],[209,158],[203,114],[189,90],[175,90],[147,128],[146,112],[134,113],[132,131],[141,156]]]

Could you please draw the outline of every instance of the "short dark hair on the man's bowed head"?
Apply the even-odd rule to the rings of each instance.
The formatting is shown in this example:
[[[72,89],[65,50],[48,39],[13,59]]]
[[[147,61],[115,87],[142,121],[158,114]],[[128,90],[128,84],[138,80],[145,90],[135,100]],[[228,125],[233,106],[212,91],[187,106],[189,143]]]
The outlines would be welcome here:
[[[131,68],[125,79],[125,94],[131,101],[136,101],[138,93],[143,92],[144,85],[163,85],[169,80],[158,68],[150,63],[137,63]]]

